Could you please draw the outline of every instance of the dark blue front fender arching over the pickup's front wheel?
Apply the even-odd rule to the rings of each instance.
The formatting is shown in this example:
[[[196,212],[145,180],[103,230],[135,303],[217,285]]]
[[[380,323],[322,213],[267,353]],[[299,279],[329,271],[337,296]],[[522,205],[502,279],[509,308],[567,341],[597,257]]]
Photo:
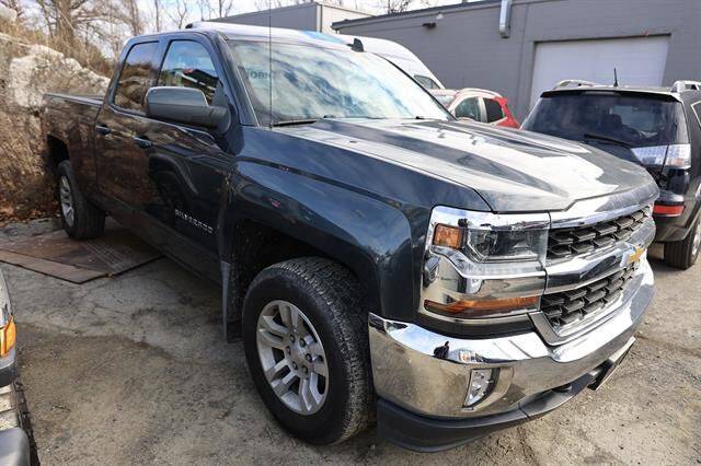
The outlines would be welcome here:
[[[254,220],[353,270],[372,312],[411,319],[417,299],[413,237],[425,228],[428,213],[406,207],[268,164],[242,162],[229,185],[219,251],[231,257],[235,223]]]

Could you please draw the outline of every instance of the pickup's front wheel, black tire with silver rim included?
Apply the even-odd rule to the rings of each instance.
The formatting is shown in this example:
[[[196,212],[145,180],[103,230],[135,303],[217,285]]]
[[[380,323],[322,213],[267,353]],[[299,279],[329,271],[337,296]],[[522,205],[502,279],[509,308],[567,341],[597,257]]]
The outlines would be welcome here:
[[[289,331],[280,337],[260,326],[260,322],[276,315],[277,323],[283,323],[285,327],[283,315],[292,316],[292,307],[301,312],[298,319],[300,325],[287,328],[301,328],[300,331]],[[275,337],[275,345],[279,339],[279,349],[267,347],[268,339],[264,335]],[[297,339],[290,340],[289,337],[294,338],[295,335]],[[304,348],[303,340],[308,341]],[[264,269],[253,280],[245,296],[243,345],[249,371],[263,401],[277,421],[294,435],[314,444],[340,443],[361,432],[370,423],[374,394],[367,315],[361,310],[357,281],[345,268],[331,260],[308,257]],[[299,351],[314,354],[313,359],[306,360],[312,361],[309,372],[302,372],[306,366],[303,357],[309,353],[301,354]],[[323,358],[320,353],[323,353]],[[273,362],[275,368],[283,365],[277,372],[275,369],[271,371],[277,374],[277,381],[281,381],[277,387],[289,385],[289,389],[280,388],[287,389],[281,397],[276,395],[273,382],[268,382],[264,372],[263,361],[271,354],[275,359],[266,359],[268,368]],[[300,364],[292,368],[295,360]],[[320,370],[323,364],[325,371]],[[297,371],[294,372],[295,369]],[[285,384],[286,378],[291,382]],[[308,381],[307,387],[315,386],[318,394],[323,392],[322,401],[312,399],[313,395],[307,398],[299,396],[304,392],[304,380]],[[304,393],[311,392],[308,389]],[[304,399],[312,401],[307,404]]]

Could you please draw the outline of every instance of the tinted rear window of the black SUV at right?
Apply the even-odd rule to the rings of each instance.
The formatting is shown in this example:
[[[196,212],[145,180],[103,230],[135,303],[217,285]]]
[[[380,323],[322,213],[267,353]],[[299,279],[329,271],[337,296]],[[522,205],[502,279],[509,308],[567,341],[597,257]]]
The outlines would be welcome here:
[[[630,148],[688,142],[680,103],[620,93],[544,96],[522,128],[565,139]]]

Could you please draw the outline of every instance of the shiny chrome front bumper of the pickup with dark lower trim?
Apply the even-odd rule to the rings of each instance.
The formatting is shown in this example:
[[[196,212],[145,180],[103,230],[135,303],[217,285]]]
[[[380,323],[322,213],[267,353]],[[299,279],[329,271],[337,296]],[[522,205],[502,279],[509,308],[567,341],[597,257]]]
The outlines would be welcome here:
[[[560,346],[536,331],[459,339],[370,315],[379,432],[405,447],[441,450],[556,408],[630,343],[654,293],[646,260],[629,290],[595,329]],[[487,398],[466,408],[470,372],[481,368],[497,368],[498,380]]]

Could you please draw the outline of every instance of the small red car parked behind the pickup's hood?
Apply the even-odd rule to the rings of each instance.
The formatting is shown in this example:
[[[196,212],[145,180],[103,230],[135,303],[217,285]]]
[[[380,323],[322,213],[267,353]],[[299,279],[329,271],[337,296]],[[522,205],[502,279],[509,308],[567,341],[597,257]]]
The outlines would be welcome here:
[[[484,89],[467,88],[430,90],[430,93],[456,118],[470,118],[490,125],[518,128],[519,124],[508,108],[508,100],[502,94]]]

